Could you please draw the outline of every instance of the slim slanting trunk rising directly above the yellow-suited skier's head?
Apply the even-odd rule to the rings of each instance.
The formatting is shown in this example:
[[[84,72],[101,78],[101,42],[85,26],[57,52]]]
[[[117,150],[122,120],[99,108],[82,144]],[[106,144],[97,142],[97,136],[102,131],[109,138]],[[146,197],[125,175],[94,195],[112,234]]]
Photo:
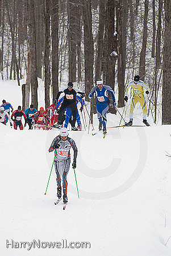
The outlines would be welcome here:
[[[148,2],[145,0],[145,11],[144,11],[144,28],[143,28],[143,43],[140,53],[140,65],[139,65],[139,76],[141,80],[145,80],[145,55],[147,47],[147,18],[148,18]]]

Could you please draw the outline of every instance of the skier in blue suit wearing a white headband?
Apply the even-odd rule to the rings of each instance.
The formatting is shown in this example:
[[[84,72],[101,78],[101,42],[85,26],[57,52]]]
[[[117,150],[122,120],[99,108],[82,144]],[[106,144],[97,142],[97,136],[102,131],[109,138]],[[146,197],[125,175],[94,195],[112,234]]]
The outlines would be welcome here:
[[[96,82],[97,85],[95,85],[92,89],[91,92],[89,93],[89,98],[93,98],[93,94],[95,93],[95,96],[97,97],[97,117],[99,119],[99,130],[102,130],[103,126],[103,134],[106,134],[106,114],[107,111],[109,110],[109,98],[108,98],[108,93],[111,93],[112,100],[114,106],[116,106],[116,101],[115,101],[115,94],[112,88],[109,85],[103,85],[103,80],[98,80]]]

